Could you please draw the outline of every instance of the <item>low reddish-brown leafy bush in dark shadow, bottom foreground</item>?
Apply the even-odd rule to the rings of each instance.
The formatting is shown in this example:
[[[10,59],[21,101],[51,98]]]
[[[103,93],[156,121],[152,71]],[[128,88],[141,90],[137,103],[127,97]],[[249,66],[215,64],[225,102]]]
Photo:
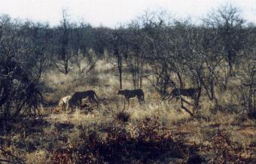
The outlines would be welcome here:
[[[184,159],[189,154],[187,146],[174,141],[172,133],[160,126],[157,119],[146,118],[136,129],[138,134],[134,137],[125,129],[113,127],[108,129],[104,141],[91,132],[88,140],[73,150],[56,150],[53,160],[58,162],[62,156],[72,159],[72,152],[78,152],[78,163],[145,163],[164,156]]]

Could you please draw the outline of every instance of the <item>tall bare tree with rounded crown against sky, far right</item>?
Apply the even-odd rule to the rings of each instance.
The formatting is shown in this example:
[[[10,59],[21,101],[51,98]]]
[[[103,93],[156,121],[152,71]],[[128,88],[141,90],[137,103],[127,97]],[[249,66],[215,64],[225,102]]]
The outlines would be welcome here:
[[[206,24],[218,31],[218,38],[224,48],[224,56],[229,65],[229,74],[233,74],[236,55],[244,45],[245,32],[242,30],[242,26],[245,20],[240,17],[240,13],[238,8],[226,5],[209,14],[209,18],[205,20]]]

